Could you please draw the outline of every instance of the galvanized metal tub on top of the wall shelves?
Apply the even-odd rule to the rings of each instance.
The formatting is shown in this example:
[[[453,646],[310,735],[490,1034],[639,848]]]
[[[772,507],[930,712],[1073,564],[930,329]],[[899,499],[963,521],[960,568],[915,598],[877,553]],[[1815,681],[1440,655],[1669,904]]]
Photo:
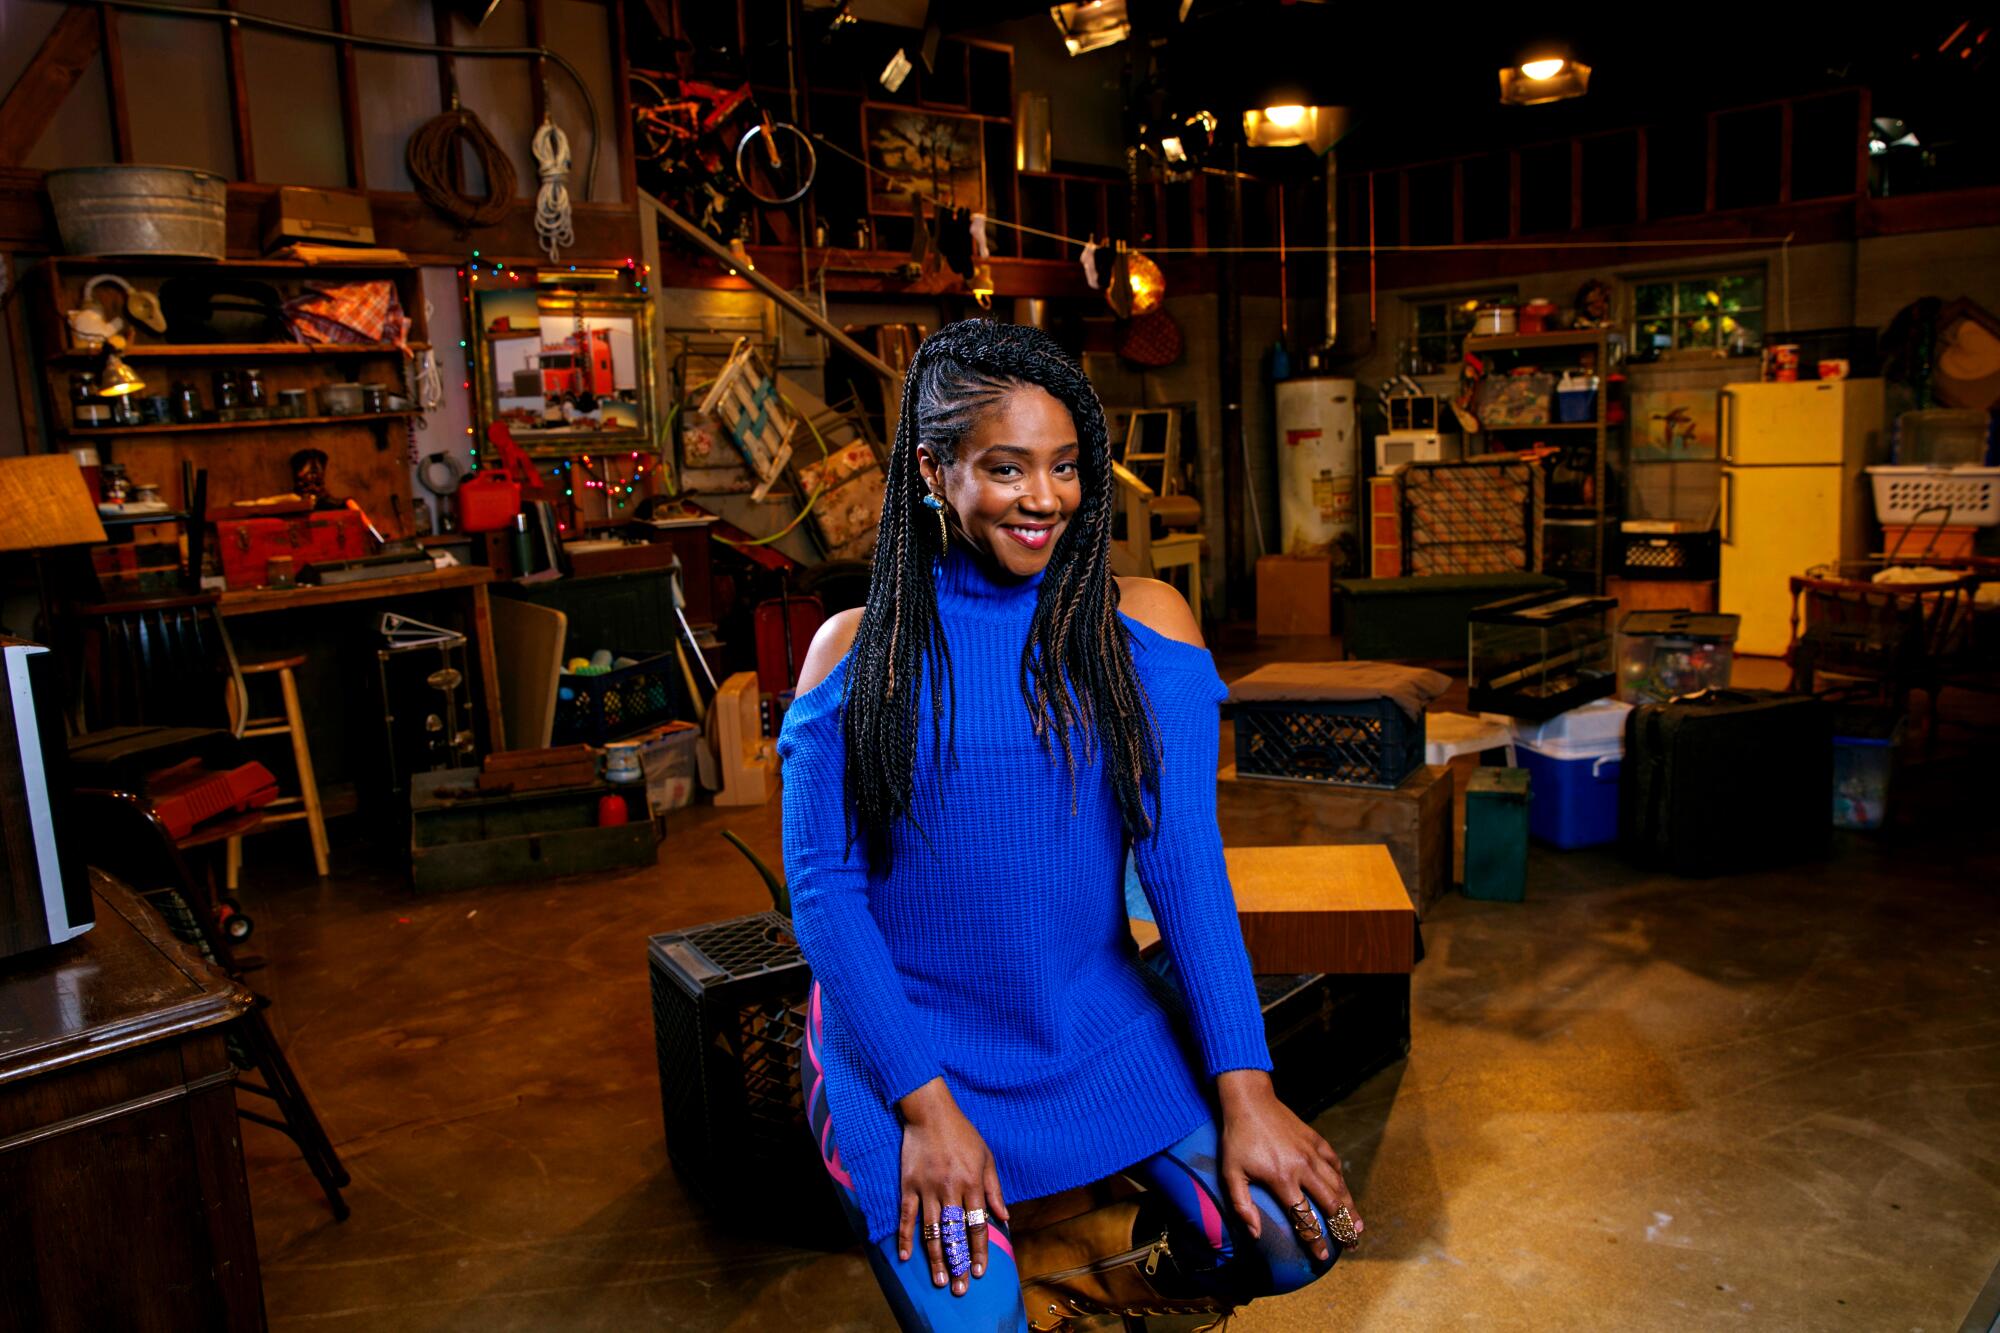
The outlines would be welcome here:
[[[228,184],[186,166],[72,166],[48,172],[68,254],[222,258]]]

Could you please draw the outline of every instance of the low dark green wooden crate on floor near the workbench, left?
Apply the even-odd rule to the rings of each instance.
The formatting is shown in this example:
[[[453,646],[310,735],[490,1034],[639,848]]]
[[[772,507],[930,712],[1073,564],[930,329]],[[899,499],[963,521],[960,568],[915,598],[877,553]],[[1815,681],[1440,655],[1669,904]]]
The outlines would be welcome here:
[[[646,785],[476,795],[478,769],[418,773],[410,783],[410,879],[420,891],[624,871],[654,865],[660,845]],[[458,795],[466,793],[466,795]],[[618,795],[628,823],[598,827],[598,801]]]

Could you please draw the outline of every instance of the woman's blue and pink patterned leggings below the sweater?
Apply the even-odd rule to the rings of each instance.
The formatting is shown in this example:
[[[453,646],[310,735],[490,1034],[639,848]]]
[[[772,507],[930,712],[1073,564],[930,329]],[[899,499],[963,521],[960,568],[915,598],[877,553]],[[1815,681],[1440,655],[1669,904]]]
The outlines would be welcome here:
[[[854,1181],[840,1165],[840,1145],[834,1141],[832,1115],[826,1107],[824,1071],[820,1069],[820,987],[812,987],[812,1023],[806,1031],[806,1119],[820,1145],[820,1161],[840,1185],[840,1205],[848,1213],[854,1235],[866,1235]],[[1320,1261],[1298,1243],[1290,1213],[1252,1183],[1250,1199],[1262,1213],[1262,1237],[1252,1237],[1228,1203],[1220,1181],[1220,1147],[1214,1121],[1200,1125],[1170,1149],[1120,1171],[1148,1193],[1142,1195],[1138,1235],[1170,1231],[1170,1243],[1186,1277],[1200,1293],[1222,1295],[1242,1305],[1262,1295],[1298,1291],[1334,1267],[1340,1245],[1328,1239],[1334,1259]],[[1326,1219],[1312,1209],[1326,1235]],[[1008,1329],[1026,1331],[1028,1313],[1020,1301],[1020,1271],[1014,1267],[1014,1243],[1008,1225],[998,1217],[986,1227],[986,1275],[966,1277],[966,1295],[930,1281],[930,1257],[920,1239],[912,1241],[910,1257],[896,1257],[896,1235],[864,1247],[882,1295],[906,1333],[932,1329]]]

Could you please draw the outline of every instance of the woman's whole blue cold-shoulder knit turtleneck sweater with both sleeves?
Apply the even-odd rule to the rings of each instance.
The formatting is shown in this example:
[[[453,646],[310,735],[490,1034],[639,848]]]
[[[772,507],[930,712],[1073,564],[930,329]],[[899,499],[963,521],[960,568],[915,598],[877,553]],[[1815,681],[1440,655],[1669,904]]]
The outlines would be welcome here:
[[[1128,839],[1102,755],[1078,767],[1072,813],[1062,751],[1044,751],[1028,721],[1020,654],[1038,586],[998,582],[956,548],[940,566],[956,767],[934,753],[926,681],[916,817],[928,841],[898,825],[886,875],[848,845],[846,662],[792,705],[778,739],[792,925],[820,983],[834,1139],[870,1243],[896,1231],[894,1103],[938,1075],[1018,1203],[1150,1157],[1214,1115],[1214,1075],[1270,1069],[1216,829],[1214,660],[1120,620],[1164,753],[1154,835],[1130,847],[1182,1007],[1138,963]]]

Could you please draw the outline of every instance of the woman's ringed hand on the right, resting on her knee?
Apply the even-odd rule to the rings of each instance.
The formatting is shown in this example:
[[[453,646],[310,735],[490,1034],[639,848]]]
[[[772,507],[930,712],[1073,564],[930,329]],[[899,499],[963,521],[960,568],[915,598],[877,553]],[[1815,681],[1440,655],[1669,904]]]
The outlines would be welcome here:
[[[1216,1087],[1222,1095],[1222,1187],[1250,1235],[1262,1233],[1262,1215],[1250,1201],[1252,1181],[1282,1207],[1310,1195],[1328,1223],[1336,1209],[1348,1209],[1354,1231],[1362,1231],[1362,1213],[1348,1193],[1340,1153],[1278,1101],[1268,1073],[1232,1069]],[[1332,1239],[1322,1233],[1314,1253],[1330,1259],[1330,1245]]]

